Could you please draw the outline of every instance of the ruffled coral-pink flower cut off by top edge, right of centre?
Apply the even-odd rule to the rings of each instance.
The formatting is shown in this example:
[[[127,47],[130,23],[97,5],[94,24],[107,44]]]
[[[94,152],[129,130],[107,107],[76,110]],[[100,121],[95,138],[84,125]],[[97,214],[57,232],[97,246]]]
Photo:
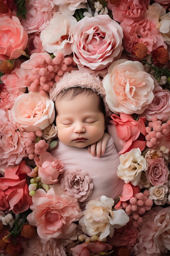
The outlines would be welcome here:
[[[112,10],[114,20],[131,24],[144,18],[144,12],[149,4],[150,0],[137,0],[135,2],[134,0],[121,0],[118,4],[110,4],[110,0],[108,0],[107,7]]]

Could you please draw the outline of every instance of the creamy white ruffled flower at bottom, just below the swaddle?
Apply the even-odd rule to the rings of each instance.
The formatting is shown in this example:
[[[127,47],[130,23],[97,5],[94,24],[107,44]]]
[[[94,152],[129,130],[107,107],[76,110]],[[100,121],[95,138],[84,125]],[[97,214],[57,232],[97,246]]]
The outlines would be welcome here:
[[[86,204],[83,217],[79,220],[84,234],[98,235],[103,241],[107,236],[113,237],[115,228],[126,225],[129,216],[123,209],[113,211],[114,202],[112,198],[102,195],[100,201],[91,200]]]

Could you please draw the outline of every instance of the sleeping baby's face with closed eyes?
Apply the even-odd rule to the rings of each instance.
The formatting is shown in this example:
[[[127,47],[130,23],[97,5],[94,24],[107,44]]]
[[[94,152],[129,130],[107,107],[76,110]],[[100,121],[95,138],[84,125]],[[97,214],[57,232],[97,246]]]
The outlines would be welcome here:
[[[55,101],[58,139],[68,146],[85,148],[102,138],[105,117],[99,111],[97,94],[77,95]]]

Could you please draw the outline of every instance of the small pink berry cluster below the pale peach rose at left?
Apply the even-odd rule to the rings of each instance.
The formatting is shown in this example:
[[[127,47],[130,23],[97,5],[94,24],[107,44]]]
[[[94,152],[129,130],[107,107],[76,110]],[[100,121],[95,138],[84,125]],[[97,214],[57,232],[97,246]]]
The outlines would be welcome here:
[[[29,159],[38,161],[38,156],[49,148],[49,144],[42,138],[40,130],[28,133],[28,140],[25,143]]]

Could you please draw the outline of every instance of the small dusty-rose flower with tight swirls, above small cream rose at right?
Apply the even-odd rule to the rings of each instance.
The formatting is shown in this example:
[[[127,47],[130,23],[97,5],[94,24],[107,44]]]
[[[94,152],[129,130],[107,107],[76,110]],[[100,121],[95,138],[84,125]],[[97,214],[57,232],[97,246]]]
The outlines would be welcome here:
[[[153,185],[161,185],[168,181],[168,167],[165,164],[164,159],[155,158],[152,159],[148,165],[146,171],[148,181]]]

